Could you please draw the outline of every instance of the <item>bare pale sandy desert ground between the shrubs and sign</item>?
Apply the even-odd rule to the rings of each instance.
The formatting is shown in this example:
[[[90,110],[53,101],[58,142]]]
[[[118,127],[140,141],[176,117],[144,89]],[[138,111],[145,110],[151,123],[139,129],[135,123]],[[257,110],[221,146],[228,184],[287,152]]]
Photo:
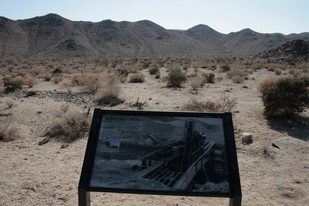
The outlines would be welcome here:
[[[243,66],[241,70],[246,71],[247,78],[237,83],[227,78],[225,72],[221,72],[219,62],[205,60],[209,66],[202,69],[201,64],[193,64],[195,61],[197,60],[191,60],[187,74],[215,74],[214,83],[206,82],[198,88],[197,94],[190,86],[189,78],[181,87],[167,86],[163,78],[168,74],[167,62],[171,63],[167,61],[163,67],[159,67],[161,76],[158,79],[149,74],[149,68],[145,68],[138,71],[145,74],[144,82],[131,83],[129,78],[123,83],[118,82],[121,88],[120,98],[125,101],[113,107],[97,105],[94,102],[95,94],[81,92],[79,86],[72,86],[71,93],[61,87],[64,82],[71,82],[74,74],[82,71],[85,73],[96,70],[97,75],[107,74],[105,72],[114,69],[109,64],[100,66],[97,61],[86,57],[54,61],[32,60],[32,64],[28,61],[2,64],[2,78],[6,75],[18,75],[21,68],[25,72],[28,71],[27,68],[42,68],[51,72],[61,66],[67,72],[61,74],[63,79],[57,84],[52,80],[45,81],[38,74],[33,87],[24,85],[21,90],[0,95],[0,122],[11,121],[21,136],[12,141],[0,142],[0,205],[78,205],[77,188],[88,139],[87,132],[85,137],[75,141],[59,136],[50,138],[49,142],[42,145],[36,143],[44,137],[45,129],[64,115],[61,110],[63,105],[69,105],[67,112],[87,112],[90,108],[92,116],[94,108],[137,110],[133,103],[139,98],[139,102],[147,103],[142,107],[146,111],[185,111],[185,104],[192,98],[201,102],[215,101],[223,93],[235,98],[237,102],[232,112],[242,205],[308,205],[309,111],[301,114],[301,120],[267,119],[263,115],[263,103],[257,92],[260,82],[266,78],[306,73],[297,67],[286,67],[281,68],[281,75],[276,75],[274,71],[265,68]],[[244,65],[243,60],[235,61],[234,63],[238,61]],[[122,64],[124,63],[120,62],[116,68]],[[209,69],[211,65],[217,65],[217,69],[212,71]],[[26,97],[27,91],[36,91],[36,95]],[[8,106],[10,102],[13,103],[11,107]],[[242,143],[243,132],[251,133],[253,140]],[[263,152],[265,142],[267,152]],[[286,143],[286,147],[278,149],[272,146],[273,142]],[[228,198],[98,192],[91,192],[90,195],[91,205],[187,206],[229,203]]]

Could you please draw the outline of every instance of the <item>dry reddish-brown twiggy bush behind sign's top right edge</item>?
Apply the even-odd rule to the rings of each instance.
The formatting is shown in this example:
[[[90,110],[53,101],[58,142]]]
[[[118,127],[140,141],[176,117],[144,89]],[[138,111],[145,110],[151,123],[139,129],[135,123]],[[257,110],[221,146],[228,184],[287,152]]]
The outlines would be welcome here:
[[[223,93],[215,102],[208,100],[207,102],[199,102],[196,98],[191,99],[184,105],[186,111],[197,112],[226,112],[234,111],[236,99]]]

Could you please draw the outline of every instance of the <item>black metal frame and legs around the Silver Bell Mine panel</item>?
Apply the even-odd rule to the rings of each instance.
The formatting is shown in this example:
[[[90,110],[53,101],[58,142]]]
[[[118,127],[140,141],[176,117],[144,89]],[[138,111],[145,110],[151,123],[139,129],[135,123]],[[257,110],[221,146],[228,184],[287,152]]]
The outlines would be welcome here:
[[[89,187],[92,166],[95,158],[96,145],[99,137],[100,123],[103,114],[125,113],[126,115],[143,115],[143,116],[215,116],[220,115],[223,118],[224,136],[227,138],[226,151],[227,164],[230,167],[229,182],[230,194],[200,194],[198,192],[182,192],[182,191],[155,191],[155,190],[133,190],[133,189],[118,189],[118,188],[94,188]],[[231,112],[225,113],[208,113],[208,112],[175,112],[175,111],[129,111],[129,110],[102,110],[95,108],[89,138],[87,142],[83,167],[78,185],[78,203],[79,205],[90,205],[90,192],[119,192],[119,193],[135,193],[135,194],[150,194],[150,195],[184,195],[184,196],[204,196],[204,197],[227,197],[230,198],[230,205],[241,204],[241,186],[239,178],[239,169],[235,145],[234,128]]]

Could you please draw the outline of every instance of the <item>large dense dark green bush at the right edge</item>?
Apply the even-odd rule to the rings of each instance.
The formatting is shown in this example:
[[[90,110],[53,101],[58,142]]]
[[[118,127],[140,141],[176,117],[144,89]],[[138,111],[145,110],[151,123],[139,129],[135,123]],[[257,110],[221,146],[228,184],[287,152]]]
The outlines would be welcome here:
[[[309,78],[286,77],[261,85],[267,116],[291,116],[309,107]]]

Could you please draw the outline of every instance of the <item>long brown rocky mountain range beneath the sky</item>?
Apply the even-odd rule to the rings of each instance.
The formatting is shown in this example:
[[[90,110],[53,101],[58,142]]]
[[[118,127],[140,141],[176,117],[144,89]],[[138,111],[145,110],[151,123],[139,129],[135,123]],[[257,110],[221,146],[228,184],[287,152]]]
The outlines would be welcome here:
[[[71,21],[57,14],[24,20],[0,17],[0,58],[258,53],[287,41],[309,39],[309,32],[262,34],[250,29],[222,34],[207,25],[164,29],[138,22]]]

